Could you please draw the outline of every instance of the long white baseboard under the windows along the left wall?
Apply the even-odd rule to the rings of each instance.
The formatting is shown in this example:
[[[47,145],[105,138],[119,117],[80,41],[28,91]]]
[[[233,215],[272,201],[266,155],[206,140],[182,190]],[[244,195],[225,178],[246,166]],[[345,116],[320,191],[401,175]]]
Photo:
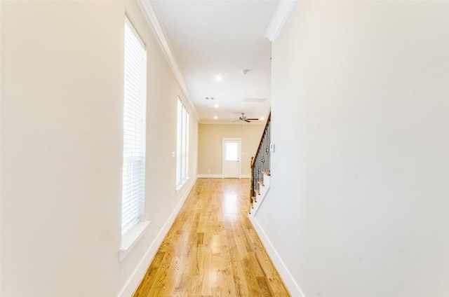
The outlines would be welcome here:
[[[149,248],[147,249],[147,252],[142,257],[142,260],[139,262],[139,264],[137,265],[137,267],[135,268],[135,270],[133,271],[133,273],[131,274],[128,281],[123,286],[117,297],[133,296],[135,289],[138,288],[140,281],[145,275],[145,272],[147,272],[149,263],[151,263],[151,261],[153,260],[154,255],[156,254],[157,250],[161,246],[163,239],[166,237],[168,231],[173,225],[173,222],[175,221],[177,214],[179,214],[182,205],[184,205],[184,202],[187,199],[187,196],[189,195],[195,183],[196,179],[192,181],[192,184],[189,185],[189,188],[185,192],[185,195],[182,196],[180,202],[177,203],[176,207],[173,209],[173,212],[171,212],[170,216],[168,216],[167,221],[163,224],[161,230],[159,230],[159,233],[154,238],[152,244],[150,244]]]

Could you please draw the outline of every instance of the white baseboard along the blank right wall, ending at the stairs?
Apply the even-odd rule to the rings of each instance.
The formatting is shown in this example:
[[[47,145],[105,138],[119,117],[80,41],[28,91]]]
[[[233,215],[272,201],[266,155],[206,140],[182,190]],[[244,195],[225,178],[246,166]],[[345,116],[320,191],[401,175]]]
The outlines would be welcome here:
[[[279,256],[278,252],[273,247],[272,242],[270,242],[269,238],[267,237],[267,234],[264,232],[262,226],[260,226],[260,223],[254,216],[249,215],[249,218],[251,223],[253,223],[257,235],[259,235],[260,240],[262,240],[262,243],[264,244],[264,247],[267,250],[269,257],[272,258],[274,266],[276,266],[276,269],[278,270],[279,275],[281,275],[284,284],[286,284],[286,287],[290,292],[290,295],[305,297],[304,293],[302,293],[300,289],[300,286],[293,278],[293,275],[291,275],[290,270],[288,270],[286,264],[283,263],[281,256]]]

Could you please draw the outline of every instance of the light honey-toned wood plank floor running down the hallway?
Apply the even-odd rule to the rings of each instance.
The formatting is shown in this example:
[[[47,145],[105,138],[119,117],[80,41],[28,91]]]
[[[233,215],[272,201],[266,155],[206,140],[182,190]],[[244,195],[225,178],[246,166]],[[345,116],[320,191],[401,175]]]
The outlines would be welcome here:
[[[248,219],[249,179],[198,179],[134,297],[290,296]]]

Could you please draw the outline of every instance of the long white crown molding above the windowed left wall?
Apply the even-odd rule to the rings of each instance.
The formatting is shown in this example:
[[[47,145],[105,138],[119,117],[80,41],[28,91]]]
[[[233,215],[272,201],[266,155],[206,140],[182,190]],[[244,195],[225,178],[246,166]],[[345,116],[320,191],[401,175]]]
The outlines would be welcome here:
[[[190,97],[189,89],[185,84],[184,78],[182,77],[180,67],[177,64],[177,60],[175,55],[173,54],[173,49],[170,45],[166,37],[166,33],[163,30],[161,23],[159,22],[156,13],[154,13],[154,9],[152,7],[151,1],[144,0],[135,0],[142,11],[145,20],[147,20],[149,27],[153,29],[154,35],[156,36],[157,41],[159,42],[159,46],[161,46],[163,54],[166,56],[168,64],[170,65],[171,70],[173,71],[173,75],[177,83],[180,85],[180,88],[183,92],[185,99],[187,100],[187,105],[189,105],[190,111],[194,114],[195,118],[198,120],[198,113],[196,113],[195,106],[192,101],[192,97]]]

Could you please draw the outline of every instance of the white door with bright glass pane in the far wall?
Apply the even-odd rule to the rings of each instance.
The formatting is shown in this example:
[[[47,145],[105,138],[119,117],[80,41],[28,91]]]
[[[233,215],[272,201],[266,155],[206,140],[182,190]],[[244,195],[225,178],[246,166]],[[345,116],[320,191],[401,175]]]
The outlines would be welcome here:
[[[241,139],[223,139],[223,177],[240,178]]]

